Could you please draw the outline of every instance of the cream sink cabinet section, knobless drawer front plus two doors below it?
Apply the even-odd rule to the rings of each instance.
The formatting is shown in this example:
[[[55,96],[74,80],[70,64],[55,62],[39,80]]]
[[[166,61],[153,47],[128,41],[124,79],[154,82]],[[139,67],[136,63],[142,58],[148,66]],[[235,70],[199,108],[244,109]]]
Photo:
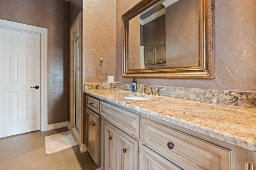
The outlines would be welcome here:
[[[100,102],[105,123],[105,169],[137,170],[140,117],[106,102]]]

